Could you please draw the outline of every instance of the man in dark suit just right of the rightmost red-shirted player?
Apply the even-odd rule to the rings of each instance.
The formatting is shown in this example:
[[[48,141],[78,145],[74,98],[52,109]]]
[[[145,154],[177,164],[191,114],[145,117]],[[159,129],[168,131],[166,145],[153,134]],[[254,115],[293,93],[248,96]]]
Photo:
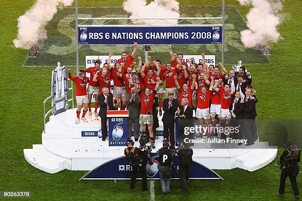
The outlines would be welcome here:
[[[233,137],[235,139],[243,139],[243,110],[244,110],[244,104],[240,102],[240,92],[236,91],[235,96],[233,97],[231,104],[229,105],[229,112],[232,115],[231,120],[231,126],[233,128],[237,127],[238,132],[234,130]],[[242,100],[243,101],[243,100]],[[242,143],[238,143],[238,145],[241,145]]]

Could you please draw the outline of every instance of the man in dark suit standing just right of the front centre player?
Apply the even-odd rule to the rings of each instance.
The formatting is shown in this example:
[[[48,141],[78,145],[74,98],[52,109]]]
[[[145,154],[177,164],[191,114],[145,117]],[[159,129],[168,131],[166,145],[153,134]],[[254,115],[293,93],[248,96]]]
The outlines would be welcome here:
[[[174,147],[175,112],[177,110],[178,100],[173,99],[173,96],[173,92],[168,93],[168,98],[163,101],[162,109],[164,111],[164,114],[162,117],[162,122],[164,127],[164,138],[167,138],[171,143],[171,146]]]

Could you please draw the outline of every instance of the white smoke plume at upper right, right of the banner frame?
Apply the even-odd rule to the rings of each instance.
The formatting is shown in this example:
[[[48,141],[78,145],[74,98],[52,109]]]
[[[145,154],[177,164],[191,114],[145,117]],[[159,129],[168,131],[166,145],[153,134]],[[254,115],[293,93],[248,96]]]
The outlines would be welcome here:
[[[252,4],[247,17],[249,30],[241,31],[241,41],[245,47],[256,47],[257,44],[277,42],[281,37],[277,26],[281,20],[277,13],[282,9],[280,1],[238,0],[241,5]]]

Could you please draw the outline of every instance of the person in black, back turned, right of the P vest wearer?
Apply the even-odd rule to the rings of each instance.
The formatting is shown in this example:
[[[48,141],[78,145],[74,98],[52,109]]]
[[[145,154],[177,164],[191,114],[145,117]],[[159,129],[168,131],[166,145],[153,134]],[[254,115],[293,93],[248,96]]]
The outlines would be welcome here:
[[[182,140],[181,146],[178,147],[177,155],[180,157],[179,176],[182,181],[185,194],[189,195],[189,174],[193,156],[193,150],[190,148],[190,144]]]

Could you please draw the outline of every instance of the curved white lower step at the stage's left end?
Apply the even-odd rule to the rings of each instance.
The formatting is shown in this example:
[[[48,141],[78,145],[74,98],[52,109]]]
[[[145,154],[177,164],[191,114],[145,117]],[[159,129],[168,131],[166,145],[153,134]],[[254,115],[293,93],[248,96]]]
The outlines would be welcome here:
[[[71,169],[71,160],[47,151],[42,144],[33,144],[33,149],[24,149],[24,158],[32,166],[48,173]]]

